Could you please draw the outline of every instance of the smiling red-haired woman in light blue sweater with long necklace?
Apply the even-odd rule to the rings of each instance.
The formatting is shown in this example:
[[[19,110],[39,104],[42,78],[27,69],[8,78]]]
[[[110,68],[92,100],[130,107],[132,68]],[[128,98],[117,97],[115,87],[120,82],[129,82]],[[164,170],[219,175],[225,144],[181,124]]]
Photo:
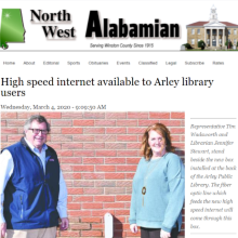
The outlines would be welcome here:
[[[164,124],[148,127],[141,147],[143,158],[133,178],[130,228],[142,238],[176,238],[184,203],[184,164],[173,154]]]

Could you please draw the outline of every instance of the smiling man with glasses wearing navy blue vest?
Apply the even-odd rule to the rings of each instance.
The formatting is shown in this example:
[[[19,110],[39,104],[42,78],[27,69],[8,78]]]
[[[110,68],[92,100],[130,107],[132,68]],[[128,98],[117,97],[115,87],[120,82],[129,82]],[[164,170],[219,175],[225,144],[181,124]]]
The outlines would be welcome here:
[[[61,229],[68,228],[67,189],[57,155],[45,145],[50,124],[31,116],[24,132],[0,156],[1,237],[54,238],[58,216]]]

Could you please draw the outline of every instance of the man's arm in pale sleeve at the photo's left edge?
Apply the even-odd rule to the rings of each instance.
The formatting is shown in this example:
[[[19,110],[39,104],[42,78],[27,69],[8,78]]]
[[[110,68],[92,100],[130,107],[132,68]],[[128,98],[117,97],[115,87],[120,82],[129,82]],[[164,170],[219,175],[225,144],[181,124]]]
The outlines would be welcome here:
[[[6,224],[3,216],[4,189],[14,169],[13,158],[8,149],[0,155],[0,233],[1,237],[4,237],[6,230]]]

